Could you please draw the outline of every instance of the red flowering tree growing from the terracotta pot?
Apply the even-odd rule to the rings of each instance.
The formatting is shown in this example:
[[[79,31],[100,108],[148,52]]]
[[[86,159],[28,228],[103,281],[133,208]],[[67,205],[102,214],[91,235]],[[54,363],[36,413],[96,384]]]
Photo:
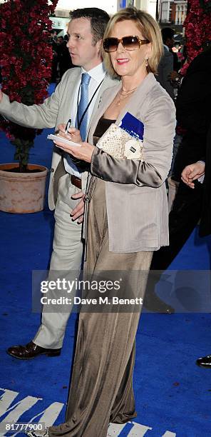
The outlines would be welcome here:
[[[51,20],[58,0],[7,0],[0,5],[0,59],[2,91],[10,101],[40,104],[48,96],[52,48],[48,44]],[[29,149],[37,129],[1,121],[1,129],[16,146],[14,159],[26,171]]]

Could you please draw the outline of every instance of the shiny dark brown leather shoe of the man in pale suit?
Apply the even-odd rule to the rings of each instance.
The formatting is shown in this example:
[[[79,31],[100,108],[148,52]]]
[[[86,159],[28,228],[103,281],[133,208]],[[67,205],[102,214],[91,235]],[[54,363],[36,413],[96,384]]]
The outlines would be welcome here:
[[[41,348],[41,346],[33,343],[33,341],[29,341],[26,346],[11,346],[11,348],[8,348],[6,352],[14,358],[18,358],[19,360],[31,360],[31,358],[35,358],[39,355],[59,356],[61,354],[61,348]]]

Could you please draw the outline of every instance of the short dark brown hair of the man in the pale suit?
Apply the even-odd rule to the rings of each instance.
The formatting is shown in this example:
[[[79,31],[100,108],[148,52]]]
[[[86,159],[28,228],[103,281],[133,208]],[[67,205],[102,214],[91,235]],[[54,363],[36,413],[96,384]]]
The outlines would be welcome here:
[[[103,9],[98,8],[83,8],[75,9],[70,12],[71,20],[86,18],[91,22],[91,33],[93,35],[93,44],[95,45],[100,39],[103,39],[105,28],[108,24],[110,16]]]

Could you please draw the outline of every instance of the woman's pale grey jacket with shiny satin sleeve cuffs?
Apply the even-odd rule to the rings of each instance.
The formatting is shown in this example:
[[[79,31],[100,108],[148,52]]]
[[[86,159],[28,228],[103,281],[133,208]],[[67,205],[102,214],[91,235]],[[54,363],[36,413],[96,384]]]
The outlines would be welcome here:
[[[113,101],[120,84],[103,93],[89,141]],[[165,179],[172,160],[175,106],[150,73],[119,114],[116,124],[130,112],[144,124],[144,162],[115,159],[96,147],[91,174],[106,181],[109,250],[155,251],[168,245],[168,201]]]

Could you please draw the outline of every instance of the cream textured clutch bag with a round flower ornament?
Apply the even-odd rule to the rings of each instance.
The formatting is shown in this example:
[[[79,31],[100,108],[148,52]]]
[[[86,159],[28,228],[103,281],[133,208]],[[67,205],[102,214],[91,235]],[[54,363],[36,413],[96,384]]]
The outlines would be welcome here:
[[[134,138],[116,124],[110,124],[97,146],[114,158],[143,161],[143,141]]]

